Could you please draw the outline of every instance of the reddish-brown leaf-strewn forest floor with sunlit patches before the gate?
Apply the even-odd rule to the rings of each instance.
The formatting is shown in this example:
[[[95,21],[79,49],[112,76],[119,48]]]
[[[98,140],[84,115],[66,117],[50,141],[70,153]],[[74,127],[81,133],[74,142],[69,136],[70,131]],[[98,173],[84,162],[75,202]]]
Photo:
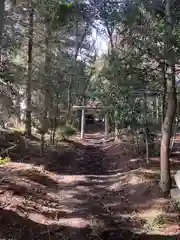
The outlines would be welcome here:
[[[87,134],[0,167],[0,239],[178,239],[179,212],[149,166],[123,141]],[[178,169],[178,156],[171,159]],[[173,172],[172,172],[173,173]]]

